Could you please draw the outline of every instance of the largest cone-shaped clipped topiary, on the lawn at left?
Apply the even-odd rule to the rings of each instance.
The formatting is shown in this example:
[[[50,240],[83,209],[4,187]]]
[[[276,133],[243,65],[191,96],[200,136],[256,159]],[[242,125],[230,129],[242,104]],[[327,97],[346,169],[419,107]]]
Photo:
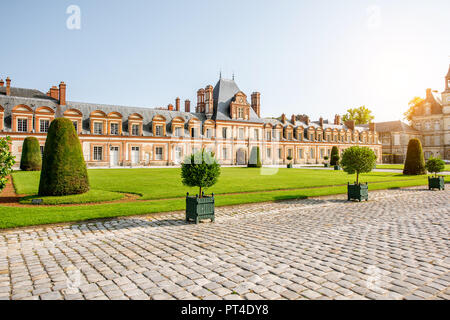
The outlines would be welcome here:
[[[42,161],[40,196],[64,196],[89,191],[81,144],[72,121],[57,118],[48,129]]]

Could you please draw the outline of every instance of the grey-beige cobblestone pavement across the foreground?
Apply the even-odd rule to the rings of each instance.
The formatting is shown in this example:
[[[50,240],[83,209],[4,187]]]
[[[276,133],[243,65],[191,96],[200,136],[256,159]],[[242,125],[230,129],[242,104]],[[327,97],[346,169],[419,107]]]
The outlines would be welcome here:
[[[450,192],[0,232],[1,299],[449,299]]]

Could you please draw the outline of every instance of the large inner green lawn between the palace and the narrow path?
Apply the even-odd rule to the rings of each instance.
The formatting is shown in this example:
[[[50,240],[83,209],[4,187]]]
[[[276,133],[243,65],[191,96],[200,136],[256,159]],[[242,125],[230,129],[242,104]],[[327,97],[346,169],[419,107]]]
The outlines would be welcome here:
[[[142,195],[142,200],[179,198],[186,192],[198,193],[181,183],[181,169],[112,169],[89,170],[91,188],[112,192]],[[299,189],[343,185],[354,182],[355,177],[343,171],[313,169],[222,168],[219,182],[208,190],[215,194],[269,190]],[[38,192],[39,172],[13,173],[18,194]],[[372,172],[362,175],[364,182],[415,180],[417,176],[403,176],[400,172]]]

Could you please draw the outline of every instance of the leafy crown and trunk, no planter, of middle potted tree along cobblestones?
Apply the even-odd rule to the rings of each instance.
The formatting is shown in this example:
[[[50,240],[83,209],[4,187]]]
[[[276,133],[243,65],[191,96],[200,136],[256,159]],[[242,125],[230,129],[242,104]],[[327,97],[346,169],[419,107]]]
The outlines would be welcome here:
[[[356,173],[356,184],[359,184],[359,175],[372,171],[377,162],[377,156],[372,149],[353,146],[342,153],[341,166],[348,174]]]

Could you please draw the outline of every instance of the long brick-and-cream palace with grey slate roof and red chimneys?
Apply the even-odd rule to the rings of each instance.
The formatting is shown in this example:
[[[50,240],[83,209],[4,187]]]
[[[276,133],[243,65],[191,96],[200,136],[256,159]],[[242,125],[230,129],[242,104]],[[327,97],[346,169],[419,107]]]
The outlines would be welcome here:
[[[66,100],[61,82],[45,94],[0,80],[0,137],[12,138],[20,159],[23,140],[35,136],[44,149],[55,117],[70,119],[78,132],[89,167],[171,166],[205,148],[223,165],[246,165],[259,147],[265,165],[321,164],[331,148],[352,145],[371,148],[381,161],[375,124],[310,121],[285,115],[281,120],[261,117],[261,94],[248,97],[234,80],[220,79],[197,92],[197,105],[180,98],[167,108],[125,107]]]

